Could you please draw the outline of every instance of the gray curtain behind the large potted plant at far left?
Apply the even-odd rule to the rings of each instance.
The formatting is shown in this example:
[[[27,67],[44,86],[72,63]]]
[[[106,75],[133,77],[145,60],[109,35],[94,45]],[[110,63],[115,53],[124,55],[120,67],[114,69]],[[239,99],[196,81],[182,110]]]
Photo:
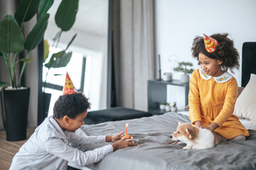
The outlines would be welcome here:
[[[14,16],[17,0],[0,0],[0,18],[1,20],[7,15]],[[32,30],[33,26],[37,21],[36,16],[27,23],[24,23],[23,33],[28,35],[30,30]],[[23,74],[23,86],[30,87],[30,103],[28,108],[28,125],[36,126],[37,124],[37,112],[38,112],[38,50],[37,48],[30,52],[30,58],[33,58],[33,62],[26,65],[26,69]],[[19,66],[17,65],[17,70]],[[1,81],[9,82],[9,76],[6,69],[6,64],[4,62],[4,58],[0,57],[0,79]],[[17,77],[18,79],[18,77]],[[2,91],[1,91],[2,95]],[[1,99],[0,99],[1,100]],[[1,101],[2,102],[2,101]],[[3,119],[2,119],[2,107],[0,104],[0,129],[4,129]]]

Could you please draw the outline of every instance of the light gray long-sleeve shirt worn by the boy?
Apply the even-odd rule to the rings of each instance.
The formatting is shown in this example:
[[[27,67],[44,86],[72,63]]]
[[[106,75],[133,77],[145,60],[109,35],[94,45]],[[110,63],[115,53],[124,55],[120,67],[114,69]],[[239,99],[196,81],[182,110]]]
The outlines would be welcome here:
[[[111,145],[83,152],[69,145],[105,142],[106,136],[81,137],[60,128],[50,116],[35,129],[28,141],[13,157],[10,169],[67,169],[67,162],[86,166],[99,162],[113,152]]]

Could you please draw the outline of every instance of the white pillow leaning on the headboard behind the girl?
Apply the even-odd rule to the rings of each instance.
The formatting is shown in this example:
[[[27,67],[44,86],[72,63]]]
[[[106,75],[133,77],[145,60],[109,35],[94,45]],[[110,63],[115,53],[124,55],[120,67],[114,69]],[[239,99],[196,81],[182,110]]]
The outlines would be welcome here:
[[[252,125],[256,125],[256,74],[250,74],[250,81],[235,103],[234,114],[252,120]]]

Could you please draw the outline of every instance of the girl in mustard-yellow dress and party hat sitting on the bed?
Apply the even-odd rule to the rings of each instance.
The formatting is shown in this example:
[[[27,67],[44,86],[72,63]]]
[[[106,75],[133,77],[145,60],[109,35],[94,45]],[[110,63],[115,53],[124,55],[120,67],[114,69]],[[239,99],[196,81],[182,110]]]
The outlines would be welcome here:
[[[249,132],[233,115],[238,83],[227,72],[239,68],[239,53],[233,40],[228,33],[197,36],[191,50],[201,67],[192,73],[189,85],[191,123],[227,140],[245,140]]]

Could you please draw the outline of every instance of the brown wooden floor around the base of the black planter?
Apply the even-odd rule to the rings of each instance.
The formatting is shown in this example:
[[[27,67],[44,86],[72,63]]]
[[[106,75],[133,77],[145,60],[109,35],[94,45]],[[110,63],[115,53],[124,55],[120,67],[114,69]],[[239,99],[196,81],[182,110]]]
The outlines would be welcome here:
[[[33,134],[35,127],[27,130],[27,139]],[[6,140],[6,131],[0,130],[0,170],[9,169],[14,155],[27,140],[10,142]]]

